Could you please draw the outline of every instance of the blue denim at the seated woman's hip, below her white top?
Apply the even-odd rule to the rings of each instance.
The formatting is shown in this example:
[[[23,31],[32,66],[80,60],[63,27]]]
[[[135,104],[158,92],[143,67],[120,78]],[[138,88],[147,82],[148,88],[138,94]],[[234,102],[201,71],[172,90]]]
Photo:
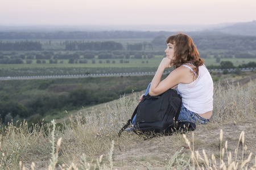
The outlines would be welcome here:
[[[181,104],[180,115],[177,121],[189,121],[195,124],[207,124],[210,120],[199,116],[199,114],[195,112],[189,111],[187,108],[184,107],[183,104]]]

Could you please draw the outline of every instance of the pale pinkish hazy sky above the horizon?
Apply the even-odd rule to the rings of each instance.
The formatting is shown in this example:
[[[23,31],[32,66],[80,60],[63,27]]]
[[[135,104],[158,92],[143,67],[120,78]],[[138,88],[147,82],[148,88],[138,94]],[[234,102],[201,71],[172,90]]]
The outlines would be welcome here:
[[[256,0],[0,1],[0,25],[187,25],[256,20]]]

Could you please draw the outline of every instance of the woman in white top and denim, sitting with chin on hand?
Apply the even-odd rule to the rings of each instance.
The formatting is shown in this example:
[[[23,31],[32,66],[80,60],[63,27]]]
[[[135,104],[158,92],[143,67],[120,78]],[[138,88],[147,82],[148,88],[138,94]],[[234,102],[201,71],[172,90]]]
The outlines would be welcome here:
[[[204,66],[204,59],[199,58],[191,37],[183,33],[168,37],[166,42],[166,57],[145,95],[157,96],[170,88],[176,89],[182,96],[178,121],[207,124],[213,111],[213,81]],[[164,69],[172,66],[175,70],[161,81]]]

